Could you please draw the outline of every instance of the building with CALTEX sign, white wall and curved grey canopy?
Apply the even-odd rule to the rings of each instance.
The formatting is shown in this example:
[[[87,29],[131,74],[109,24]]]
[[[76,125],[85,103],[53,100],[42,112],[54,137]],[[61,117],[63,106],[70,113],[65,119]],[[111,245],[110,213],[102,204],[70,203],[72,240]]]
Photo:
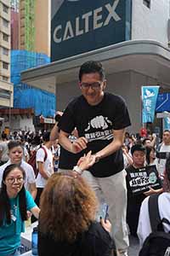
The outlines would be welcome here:
[[[139,132],[141,86],[160,85],[161,92],[170,90],[169,20],[169,0],[54,0],[54,62],[22,73],[21,79],[55,91],[57,109],[64,109],[81,93],[77,86],[81,64],[102,61],[106,90],[125,98],[132,119],[129,131]],[[108,35],[112,41],[105,40]]]

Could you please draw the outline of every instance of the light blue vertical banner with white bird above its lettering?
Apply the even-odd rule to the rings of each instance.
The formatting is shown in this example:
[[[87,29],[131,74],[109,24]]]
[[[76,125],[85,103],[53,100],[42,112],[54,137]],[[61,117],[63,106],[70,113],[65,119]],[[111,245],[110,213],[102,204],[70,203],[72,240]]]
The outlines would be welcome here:
[[[142,123],[153,123],[159,86],[142,86]]]

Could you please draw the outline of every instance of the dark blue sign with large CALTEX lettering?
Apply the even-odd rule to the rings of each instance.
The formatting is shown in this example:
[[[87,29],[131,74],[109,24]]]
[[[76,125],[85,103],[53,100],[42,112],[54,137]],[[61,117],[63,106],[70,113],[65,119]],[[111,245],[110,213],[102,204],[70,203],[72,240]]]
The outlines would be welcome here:
[[[52,61],[129,40],[131,1],[52,0]]]

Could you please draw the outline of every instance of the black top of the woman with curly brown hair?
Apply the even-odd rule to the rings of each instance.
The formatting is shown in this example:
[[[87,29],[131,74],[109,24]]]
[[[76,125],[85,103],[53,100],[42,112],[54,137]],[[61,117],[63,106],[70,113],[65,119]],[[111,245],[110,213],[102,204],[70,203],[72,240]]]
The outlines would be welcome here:
[[[38,232],[39,256],[111,256],[112,248],[114,241],[99,223],[91,224],[73,243],[54,241],[49,234]]]

